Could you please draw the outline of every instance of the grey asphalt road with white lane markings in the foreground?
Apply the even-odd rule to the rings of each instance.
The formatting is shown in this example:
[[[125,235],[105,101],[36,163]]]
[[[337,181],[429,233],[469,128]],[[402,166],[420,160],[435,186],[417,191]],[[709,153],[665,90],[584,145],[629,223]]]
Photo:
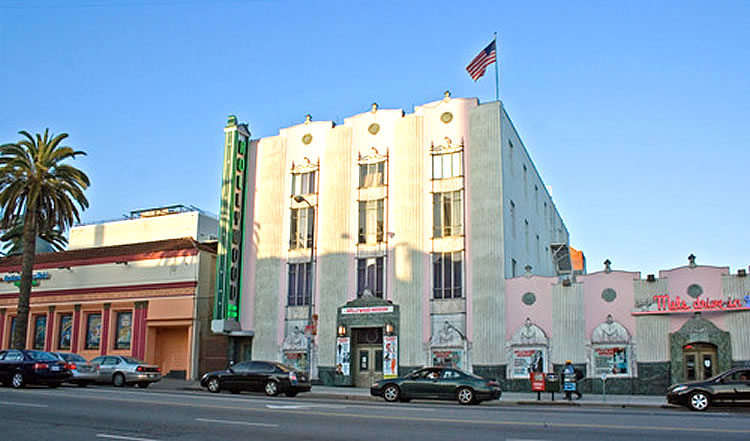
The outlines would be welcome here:
[[[750,413],[460,406],[112,387],[0,388],[11,440],[747,440]]]

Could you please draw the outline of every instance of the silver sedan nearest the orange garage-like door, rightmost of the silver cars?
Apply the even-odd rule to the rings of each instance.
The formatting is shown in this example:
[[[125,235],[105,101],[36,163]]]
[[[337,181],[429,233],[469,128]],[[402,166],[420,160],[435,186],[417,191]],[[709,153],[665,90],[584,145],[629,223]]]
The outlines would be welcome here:
[[[116,387],[136,384],[146,388],[161,380],[159,366],[124,355],[102,355],[91,360],[98,371],[98,383],[111,383]]]

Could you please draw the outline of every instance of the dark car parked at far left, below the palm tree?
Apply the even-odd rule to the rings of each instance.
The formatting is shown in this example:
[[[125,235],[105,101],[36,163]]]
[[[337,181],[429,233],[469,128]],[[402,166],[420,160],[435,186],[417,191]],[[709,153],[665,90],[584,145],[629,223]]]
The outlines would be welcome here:
[[[18,349],[0,351],[0,382],[16,389],[27,384],[58,387],[71,377],[65,362],[49,352]]]

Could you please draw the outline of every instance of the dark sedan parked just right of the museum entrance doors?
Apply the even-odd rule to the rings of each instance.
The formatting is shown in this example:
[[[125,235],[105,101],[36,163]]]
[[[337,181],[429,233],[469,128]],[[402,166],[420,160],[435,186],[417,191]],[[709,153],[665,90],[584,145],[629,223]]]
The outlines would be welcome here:
[[[495,380],[454,368],[429,367],[405,377],[380,380],[372,385],[370,394],[389,402],[426,398],[478,404],[500,398],[502,391]]]

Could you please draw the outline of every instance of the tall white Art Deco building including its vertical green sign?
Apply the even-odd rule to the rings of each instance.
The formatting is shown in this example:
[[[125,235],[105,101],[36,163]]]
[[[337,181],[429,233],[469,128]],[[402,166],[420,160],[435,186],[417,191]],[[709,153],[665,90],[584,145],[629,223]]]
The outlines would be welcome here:
[[[504,376],[505,279],[570,259],[501,102],[446,93],[411,114],[225,132],[212,328],[237,337],[233,358],[339,385],[434,364]]]

